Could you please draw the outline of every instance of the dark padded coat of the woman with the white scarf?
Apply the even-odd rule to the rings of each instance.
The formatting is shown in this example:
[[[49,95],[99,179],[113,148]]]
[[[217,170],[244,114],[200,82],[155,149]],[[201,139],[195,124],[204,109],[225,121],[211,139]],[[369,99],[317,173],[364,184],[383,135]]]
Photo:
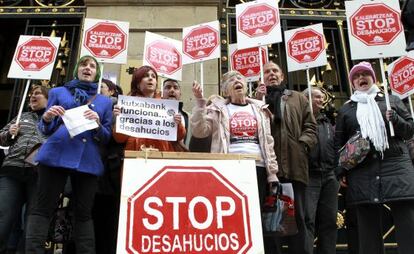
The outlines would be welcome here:
[[[414,123],[407,108],[396,96],[390,96],[391,108],[398,114],[391,137],[385,119],[384,95],[375,100],[387,127],[389,149],[384,158],[371,146],[371,152],[358,166],[347,172],[347,201],[350,205],[387,203],[414,199],[414,168],[404,140],[414,134]],[[360,129],[356,118],[357,103],[348,102],[339,110],[335,129],[335,149],[338,151]]]

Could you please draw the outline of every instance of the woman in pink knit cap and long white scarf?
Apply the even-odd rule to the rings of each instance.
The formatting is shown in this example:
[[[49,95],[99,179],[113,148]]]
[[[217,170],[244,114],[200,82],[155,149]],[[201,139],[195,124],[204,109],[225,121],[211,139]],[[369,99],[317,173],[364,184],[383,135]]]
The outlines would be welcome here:
[[[334,143],[338,151],[357,131],[371,143],[366,158],[341,178],[341,185],[348,187],[347,204],[356,211],[359,253],[384,253],[384,204],[391,208],[398,252],[412,253],[414,168],[404,140],[414,134],[413,119],[394,95],[389,97],[391,110],[387,110],[370,63],[356,64],[349,80],[354,93],[338,111]],[[395,136],[390,135],[389,122]]]

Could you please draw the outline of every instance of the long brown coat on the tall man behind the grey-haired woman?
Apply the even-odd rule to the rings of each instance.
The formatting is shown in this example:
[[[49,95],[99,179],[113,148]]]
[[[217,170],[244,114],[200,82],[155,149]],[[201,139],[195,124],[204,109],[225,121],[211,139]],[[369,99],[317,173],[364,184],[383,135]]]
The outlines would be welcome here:
[[[272,135],[279,178],[308,184],[308,149],[316,144],[316,121],[308,99],[285,89],[281,99],[282,121],[272,121]],[[306,144],[306,146],[305,146]]]

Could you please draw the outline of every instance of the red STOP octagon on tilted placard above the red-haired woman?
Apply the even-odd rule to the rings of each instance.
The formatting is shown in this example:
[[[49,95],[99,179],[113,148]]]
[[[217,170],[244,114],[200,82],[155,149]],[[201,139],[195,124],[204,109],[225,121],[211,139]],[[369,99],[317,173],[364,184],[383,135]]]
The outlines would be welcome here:
[[[155,41],[147,46],[145,59],[157,72],[173,74],[181,69],[181,54],[176,47],[166,41]]]

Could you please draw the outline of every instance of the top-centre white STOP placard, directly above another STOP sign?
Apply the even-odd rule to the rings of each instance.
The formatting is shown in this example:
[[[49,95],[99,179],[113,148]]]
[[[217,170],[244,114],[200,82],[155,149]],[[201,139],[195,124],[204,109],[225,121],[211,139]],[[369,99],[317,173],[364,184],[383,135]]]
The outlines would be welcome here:
[[[282,41],[278,1],[257,0],[236,5],[237,48]]]

